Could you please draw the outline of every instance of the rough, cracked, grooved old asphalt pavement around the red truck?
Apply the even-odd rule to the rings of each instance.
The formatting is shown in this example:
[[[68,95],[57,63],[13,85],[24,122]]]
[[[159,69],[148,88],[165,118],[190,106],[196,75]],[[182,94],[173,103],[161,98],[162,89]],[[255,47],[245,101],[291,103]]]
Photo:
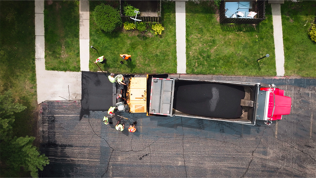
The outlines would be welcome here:
[[[80,101],[42,103],[40,150],[50,164],[41,177],[316,177],[316,79],[182,76],[274,83],[292,97],[291,114],[271,126],[185,117],[81,113]],[[82,117],[80,117],[80,113]],[[118,114],[118,113],[117,113]],[[137,131],[127,131],[137,121]]]

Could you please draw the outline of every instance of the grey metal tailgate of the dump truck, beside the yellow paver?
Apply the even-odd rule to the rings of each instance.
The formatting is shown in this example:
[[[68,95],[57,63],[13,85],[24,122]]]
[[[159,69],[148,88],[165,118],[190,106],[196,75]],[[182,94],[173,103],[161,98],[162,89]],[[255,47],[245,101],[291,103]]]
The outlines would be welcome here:
[[[152,78],[149,101],[149,114],[172,116],[174,80]]]

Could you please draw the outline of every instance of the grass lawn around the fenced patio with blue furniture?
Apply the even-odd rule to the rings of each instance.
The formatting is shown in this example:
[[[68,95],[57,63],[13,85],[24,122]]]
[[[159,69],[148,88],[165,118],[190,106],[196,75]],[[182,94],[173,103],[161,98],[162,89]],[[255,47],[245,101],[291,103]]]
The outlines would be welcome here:
[[[186,72],[189,74],[275,76],[270,4],[256,26],[219,24],[213,1],[186,2]],[[258,63],[256,60],[270,54]]]

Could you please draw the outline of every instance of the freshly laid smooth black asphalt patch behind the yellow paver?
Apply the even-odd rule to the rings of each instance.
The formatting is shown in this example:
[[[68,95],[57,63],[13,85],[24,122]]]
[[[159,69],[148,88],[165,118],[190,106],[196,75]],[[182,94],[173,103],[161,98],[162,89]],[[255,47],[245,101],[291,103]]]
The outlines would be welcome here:
[[[107,111],[112,105],[113,83],[108,79],[109,74],[101,72],[82,71],[83,110]]]

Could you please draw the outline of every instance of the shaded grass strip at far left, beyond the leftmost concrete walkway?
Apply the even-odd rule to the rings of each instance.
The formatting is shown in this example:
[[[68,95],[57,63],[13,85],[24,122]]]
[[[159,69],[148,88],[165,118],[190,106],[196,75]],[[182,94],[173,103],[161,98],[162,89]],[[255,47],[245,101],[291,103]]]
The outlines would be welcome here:
[[[15,114],[17,137],[34,136],[36,99],[34,1],[0,1],[0,94],[11,90],[16,101],[27,106]],[[1,166],[3,166],[1,164]],[[30,173],[0,169],[1,177],[30,177]]]

